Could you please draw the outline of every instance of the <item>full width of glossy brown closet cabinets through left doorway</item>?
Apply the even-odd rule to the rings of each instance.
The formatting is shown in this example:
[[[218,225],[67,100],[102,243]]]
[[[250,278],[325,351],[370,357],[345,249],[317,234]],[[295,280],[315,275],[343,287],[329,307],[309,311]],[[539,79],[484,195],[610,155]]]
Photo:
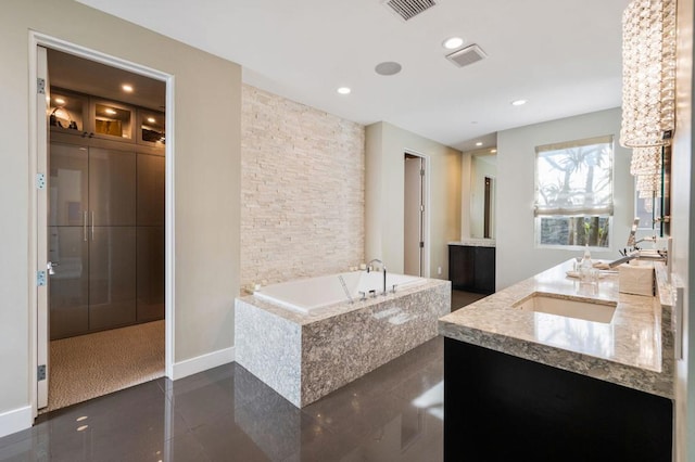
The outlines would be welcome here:
[[[51,339],[164,317],[163,144],[109,141],[73,126],[51,130]]]

